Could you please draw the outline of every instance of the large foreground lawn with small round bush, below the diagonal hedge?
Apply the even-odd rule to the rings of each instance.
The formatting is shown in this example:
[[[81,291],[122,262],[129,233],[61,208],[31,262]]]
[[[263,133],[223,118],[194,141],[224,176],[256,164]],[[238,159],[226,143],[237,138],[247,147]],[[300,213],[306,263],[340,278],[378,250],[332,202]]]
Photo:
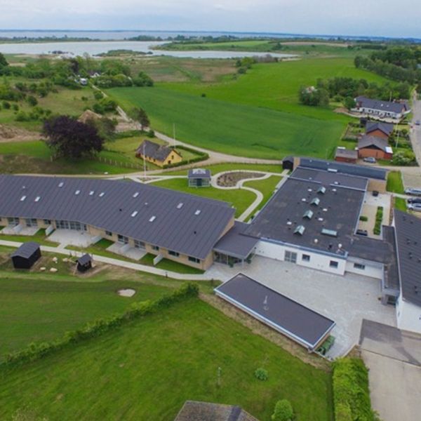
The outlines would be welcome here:
[[[261,366],[267,381],[253,375]],[[263,421],[286,398],[296,421],[332,420],[330,373],[197,298],[1,373],[0,381],[1,419],[26,407],[48,420],[173,421],[193,399],[236,404]]]

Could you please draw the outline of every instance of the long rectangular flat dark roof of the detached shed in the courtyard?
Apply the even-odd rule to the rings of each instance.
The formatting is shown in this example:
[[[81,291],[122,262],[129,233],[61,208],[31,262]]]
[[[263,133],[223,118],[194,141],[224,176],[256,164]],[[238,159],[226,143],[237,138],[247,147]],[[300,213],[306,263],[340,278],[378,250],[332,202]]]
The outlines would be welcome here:
[[[218,286],[215,293],[309,349],[335,326],[334,321],[244,274]]]

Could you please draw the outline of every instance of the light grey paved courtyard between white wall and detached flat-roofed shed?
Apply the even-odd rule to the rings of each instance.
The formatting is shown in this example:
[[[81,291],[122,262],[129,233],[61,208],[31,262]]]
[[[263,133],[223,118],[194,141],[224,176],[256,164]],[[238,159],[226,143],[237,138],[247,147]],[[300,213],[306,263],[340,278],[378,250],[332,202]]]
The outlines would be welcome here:
[[[380,280],[346,274],[339,276],[290,262],[255,256],[250,265],[215,264],[206,274],[227,281],[238,272],[286,295],[335,321],[335,345],[329,357],[346,354],[359,342],[361,321],[369,319],[396,326],[392,306],[380,303]]]

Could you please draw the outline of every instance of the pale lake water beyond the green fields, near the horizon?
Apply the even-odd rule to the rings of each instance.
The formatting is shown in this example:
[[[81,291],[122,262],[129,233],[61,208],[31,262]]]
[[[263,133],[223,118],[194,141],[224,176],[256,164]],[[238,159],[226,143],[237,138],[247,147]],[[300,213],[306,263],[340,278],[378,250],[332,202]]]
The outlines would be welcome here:
[[[153,55],[171,55],[180,58],[240,58],[263,56],[267,53],[242,51],[163,51],[152,50],[166,41],[65,41],[40,43],[0,44],[0,53],[4,54],[51,54],[52,51],[63,51],[69,55],[96,55],[110,50],[133,50]],[[290,58],[291,54],[271,53],[273,57]]]

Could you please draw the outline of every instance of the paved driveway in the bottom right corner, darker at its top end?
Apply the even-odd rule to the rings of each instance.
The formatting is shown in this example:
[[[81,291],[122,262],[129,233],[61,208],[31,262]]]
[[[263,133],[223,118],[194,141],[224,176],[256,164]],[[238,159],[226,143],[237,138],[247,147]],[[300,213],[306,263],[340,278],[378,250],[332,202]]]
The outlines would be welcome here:
[[[361,354],[373,408],[383,421],[421,418],[421,335],[363,321]]]

